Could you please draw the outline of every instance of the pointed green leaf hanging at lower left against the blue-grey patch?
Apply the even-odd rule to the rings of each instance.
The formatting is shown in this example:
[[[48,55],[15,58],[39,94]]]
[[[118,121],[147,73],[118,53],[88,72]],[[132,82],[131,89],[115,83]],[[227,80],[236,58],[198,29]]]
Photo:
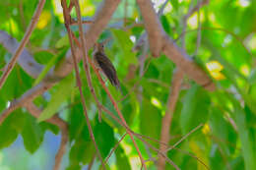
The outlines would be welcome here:
[[[36,120],[30,114],[26,114],[26,124],[22,132],[26,149],[33,153],[43,141],[43,135],[44,133]]]

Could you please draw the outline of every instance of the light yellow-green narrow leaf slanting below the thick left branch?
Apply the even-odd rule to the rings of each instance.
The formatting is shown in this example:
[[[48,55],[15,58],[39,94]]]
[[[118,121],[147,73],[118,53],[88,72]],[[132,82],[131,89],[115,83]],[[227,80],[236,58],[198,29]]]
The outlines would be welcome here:
[[[41,112],[38,122],[44,121],[52,117],[58,111],[60,105],[68,98],[71,93],[71,90],[74,87],[74,79],[72,74],[63,79],[56,91],[52,94],[51,99],[47,107]]]

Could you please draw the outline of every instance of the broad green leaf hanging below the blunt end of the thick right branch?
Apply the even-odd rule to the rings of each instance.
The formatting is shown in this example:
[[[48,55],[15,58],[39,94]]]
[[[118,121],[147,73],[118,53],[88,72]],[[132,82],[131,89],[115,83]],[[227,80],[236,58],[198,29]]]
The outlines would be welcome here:
[[[207,121],[210,103],[209,95],[199,85],[193,85],[187,91],[180,115],[180,127],[183,135]]]

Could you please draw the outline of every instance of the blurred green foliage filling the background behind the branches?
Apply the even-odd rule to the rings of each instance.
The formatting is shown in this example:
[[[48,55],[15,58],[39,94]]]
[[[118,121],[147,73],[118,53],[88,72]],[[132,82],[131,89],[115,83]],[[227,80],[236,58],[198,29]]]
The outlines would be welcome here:
[[[155,4],[158,10],[161,1],[155,2],[158,2]],[[197,1],[193,2],[196,4]],[[7,108],[12,100],[19,98],[33,85],[42,81],[51,67],[61,62],[69,48],[62,10],[59,12],[57,7],[59,3],[60,1],[46,1],[37,28],[32,32],[30,43],[27,45],[34,59],[45,66],[44,70],[33,80],[17,64],[0,90],[1,111]],[[94,16],[99,1],[87,0],[81,3],[82,15]],[[188,12],[190,3],[188,0],[171,0],[160,17],[164,30],[171,38],[176,39],[178,46],[181,45],[183,17]],[[0,29],[20,41],[32,19],[36,4],[37,1],[29,0],[1,1]],[[75,17],[75,13],[72,12],[72,15]],[[183,86],[189,87],[180,91],[171,122],[169,144],[178,142],[199,124],[204,126],[177,146],[185,151],[168,151],[168,157],[181,169],[204,169],[204,165],[195,159],[195,156],[210,169],[256,169],[256,24],[253,22],[255,20],[256,1],[210,1],[200,10],[202,42],[194,56],[197,48],[198,13],[188,19],[188,31],[184,36],[185,50],[193,56],[195,62],[209,72],[217,89],[210,92],[184,78]],[[153,58],[148,51],[149,55],[143,68],[145,74],[143,77],[140,76],[142,50],[132,52],[132,48],[145,29],[143,25],[135,25],[137,21],[141,21],[141,17],[135,0],[123,0],[98,39],[102,41],[111,37],[105,52],[117,70],[123,94],[116,91],[107,81],[106,85],[119,101],[119,107],[132,130],[160,140],[161,120],[165,114],[175,65],[163,55]],[[72,29],[78,33],[78,27],[74,26]],[[92,50],[90,56],[91,54]],[[0,46],[0,55],[0,66],[3,68],[10,60],[11,54]],[[105,158],[124,134],[124,129],[105,113],[102,115],[102,121],[98,122],[96,101],[86,84],[82,65],[80,70],[96,143],[102,157]],[[117,115],[110,99],[97,82],[96,75],[92,75],[99,101]],[[37,97],[34,103],[44,108],[38,120],[27,110],[18,109],[0,125],[0,148],[6,148],[4,159],[8,159],[6,150],[13,147],[11,144],[20,135],[24,147],[31,154],[36,154],[36,150],[42,145],[45,132],[58,134],[56,126],[43,122],[58,112],[69,124],[70,149],[66,153],[69,155],[69,165],[66,168],[79,170],[90,164],[96,149],[90,138],[75,83],[73,72],[42,96]],[[153,156],[157,156],[156,152],[145,148],[143,142],[137,142],[146,159],[149,158],[149,150]],[[159,147],[156,142],[151,143]],[[110,169],[139,169],[137,158],[136,149],[129,137],[126,137],[115,150],[114,156],[109,159],[108,165]],[[30,161],[33,161],[32,155]],[[98,168],[98,164],[99,160],[96,159],[94,167]],[[156,168],[154,163],[147,165],[151,169]],[[0,154],[0,169],[1,166]],[[13,167],[12,164],[7,166]],[[39,168],[40,165],[37,165],[34,169]],[[166,169],[173,167],[166,165]]]

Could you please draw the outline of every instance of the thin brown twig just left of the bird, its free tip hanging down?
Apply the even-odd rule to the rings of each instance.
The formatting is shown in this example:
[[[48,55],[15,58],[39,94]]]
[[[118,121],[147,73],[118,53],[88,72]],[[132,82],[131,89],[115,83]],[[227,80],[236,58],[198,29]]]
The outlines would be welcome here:
[[[75,3],[77,18],[78,18],[79,33],[80,33],[81,42],[82,42],[82,47],[80,47],[80,48],[82,49],[82,53],[83,53],[83,66],[86,71],[87,83],[89,85],[91,92],[93,93],[93,95],[95,97],[95,100],[96,100],[96,105],[98,108],[98,120],[99,120],[99,122],[101,122],[101,104],[96,97],[96,91],[92,84],[92,75],[91,75],[89,63],[88,63],[89,56],[88,56],[88,50],[87,50],[87,46],[86,46],[86,39],[84,37],[84,32],[83,32],[80,5],[79,5],[78,0],[74,0],[74,3]]]

